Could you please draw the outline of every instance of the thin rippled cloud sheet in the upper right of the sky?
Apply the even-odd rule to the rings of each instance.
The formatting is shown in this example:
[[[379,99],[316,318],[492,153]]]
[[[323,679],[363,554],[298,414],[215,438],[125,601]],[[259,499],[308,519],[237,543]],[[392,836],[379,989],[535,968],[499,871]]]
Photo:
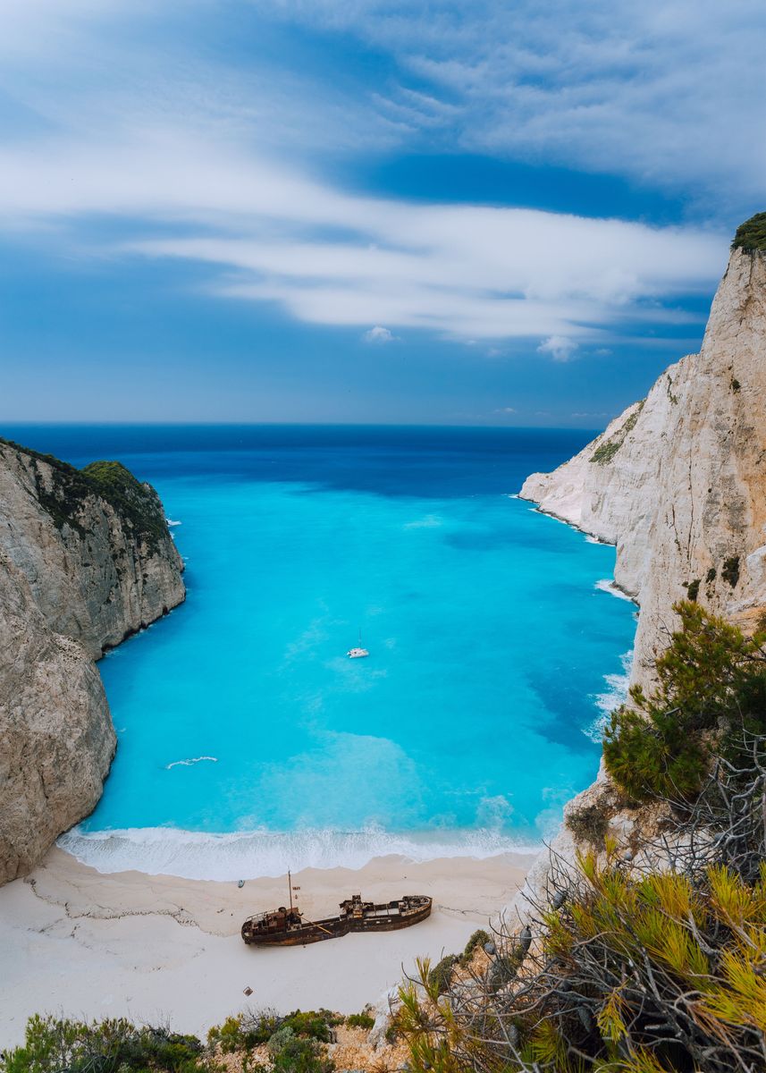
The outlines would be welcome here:
[[[705,195],[712,211],[766,195],[761,0],[259,8],[387,50],[399,85],[371,103],[399,115],[402,136],[441,123],[453,151],[617,172]]]

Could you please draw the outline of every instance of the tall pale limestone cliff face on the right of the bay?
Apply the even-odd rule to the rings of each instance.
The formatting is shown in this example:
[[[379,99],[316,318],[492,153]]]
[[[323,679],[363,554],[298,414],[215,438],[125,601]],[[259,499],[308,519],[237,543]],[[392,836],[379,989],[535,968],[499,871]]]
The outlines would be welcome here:
[[[687,596],[745,627],[766,606],[766,255],[735,249],[698,354],[521,496],[617,545],[640,605],[633,680]]]

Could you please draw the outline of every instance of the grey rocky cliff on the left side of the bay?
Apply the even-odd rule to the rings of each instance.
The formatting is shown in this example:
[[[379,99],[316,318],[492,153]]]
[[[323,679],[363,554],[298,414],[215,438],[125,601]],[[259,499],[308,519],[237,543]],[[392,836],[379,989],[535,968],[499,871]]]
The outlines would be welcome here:
[[[183,600],[182,569],[119,462],[0,441],[0,883],[99,800],[116,739],[93,660]]]

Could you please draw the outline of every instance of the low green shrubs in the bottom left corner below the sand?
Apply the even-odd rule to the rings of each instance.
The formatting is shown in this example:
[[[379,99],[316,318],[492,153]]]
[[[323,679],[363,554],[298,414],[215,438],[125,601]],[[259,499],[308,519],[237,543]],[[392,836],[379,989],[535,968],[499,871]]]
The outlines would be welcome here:
[[[123,1018],[79,1021],[30,1017],[24,1046],[0,1054],[2,1073],[215,1073],[193,1035],[137,1028]]]

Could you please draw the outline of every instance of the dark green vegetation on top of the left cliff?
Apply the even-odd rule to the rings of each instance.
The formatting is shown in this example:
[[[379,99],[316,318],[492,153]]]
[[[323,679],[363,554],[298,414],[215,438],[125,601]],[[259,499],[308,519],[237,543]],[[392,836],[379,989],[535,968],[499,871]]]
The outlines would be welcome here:
[[[85,501],[95,496],[115,510],[129,535],[150,549],[156,549],[167,535],[162,505],[153,488],[137,481],[121,462],[90,462],[78,470],[53,455],[43,455],[12,440],[0,438],[0,444],[31,460],[38,499],[58,529],[67,525],[82,536],[86,535],[82,510]],[[49,469],[44,470],[40,462]]]

